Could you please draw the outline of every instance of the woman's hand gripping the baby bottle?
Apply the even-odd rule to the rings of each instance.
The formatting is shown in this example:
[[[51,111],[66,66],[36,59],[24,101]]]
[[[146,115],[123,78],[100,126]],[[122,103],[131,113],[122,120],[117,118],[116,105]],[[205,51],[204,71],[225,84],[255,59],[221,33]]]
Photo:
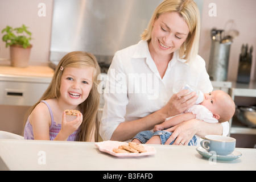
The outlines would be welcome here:
[[[189,90],[181,90],[170,98],[167,104],[161,109],[163,114],[166,114],[166,118],[181,114],[196,103],[196,93],[188,93]]]

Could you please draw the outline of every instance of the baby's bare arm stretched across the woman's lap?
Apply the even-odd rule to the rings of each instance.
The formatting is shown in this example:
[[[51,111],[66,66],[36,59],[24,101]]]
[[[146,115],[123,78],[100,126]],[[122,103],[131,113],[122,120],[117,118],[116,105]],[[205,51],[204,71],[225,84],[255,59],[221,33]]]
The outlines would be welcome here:
[[[195,119],[195,118],[196,118],[196,115],[192,113],[184,113],[184,114],[176,115],[175,117],[161,123],[160,125],[155,125],[154,131],[168,129],[172,126],[178,125],[181,122],[188,121],[190,119]]]

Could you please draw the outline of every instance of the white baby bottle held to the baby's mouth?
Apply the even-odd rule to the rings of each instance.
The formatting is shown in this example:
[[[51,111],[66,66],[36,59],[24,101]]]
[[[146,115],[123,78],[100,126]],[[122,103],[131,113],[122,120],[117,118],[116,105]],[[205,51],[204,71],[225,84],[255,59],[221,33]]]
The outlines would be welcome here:
[[[191,86],[186,84],[183,80],[176,81],[172,91],[176,94],[176,93],[180,92],[181,90],[185,90],[185,89],[189,90],[189,93],[194,92],[194,91],[196,92],[196,94],[198,96],[197,100],[196,100],[196,104],[200,104],[201,102],[204,101],[203,92],[201,92],[201,90],[199,90],[199,89],[192,88]]]

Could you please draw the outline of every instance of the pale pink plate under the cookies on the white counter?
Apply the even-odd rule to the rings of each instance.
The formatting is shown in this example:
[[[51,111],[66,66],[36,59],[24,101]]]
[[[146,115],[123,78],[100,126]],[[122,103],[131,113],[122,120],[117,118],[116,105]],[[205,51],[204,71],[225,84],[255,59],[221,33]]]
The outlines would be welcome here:
[[[117,156],[117,157],[138,157],[138,156],[146,156],[146,155],[154,155],[156,153],[155,148],[151,146],[143,145],[147,152],[142,153],[115,153],[113,152],[113,148],[118,148],[118,146],[128,145],[127,142],[118,142],[118,141],[104,141],[97,142],[95,146],[102,152],[106,152],[108,154]]]

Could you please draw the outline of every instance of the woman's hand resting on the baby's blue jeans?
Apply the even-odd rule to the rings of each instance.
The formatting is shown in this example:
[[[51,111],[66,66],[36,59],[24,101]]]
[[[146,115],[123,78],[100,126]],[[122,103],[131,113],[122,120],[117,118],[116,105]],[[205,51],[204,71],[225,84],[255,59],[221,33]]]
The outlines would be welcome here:
[[[189,141],[193,138],[193,136],[197,132],[197,119],[191,119],[189,121],[185,121],[167,129],[166,131],[173,132],[171,137],[167,139],[165,144],[170,144],[173,140],[174,145],[185,145],[187,146]]]

